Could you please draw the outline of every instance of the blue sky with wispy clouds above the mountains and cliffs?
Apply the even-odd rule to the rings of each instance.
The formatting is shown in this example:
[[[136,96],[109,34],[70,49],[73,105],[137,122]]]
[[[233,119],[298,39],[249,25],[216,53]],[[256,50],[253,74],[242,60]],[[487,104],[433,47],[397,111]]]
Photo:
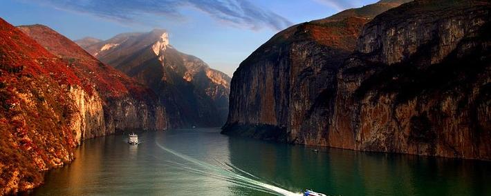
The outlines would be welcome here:
[[[15,26],[43,24],[69,39],[109,39],[122,32],[169,32],[180,52],[229,76],[256,48],[296,23],[377,0],[1,0]]]

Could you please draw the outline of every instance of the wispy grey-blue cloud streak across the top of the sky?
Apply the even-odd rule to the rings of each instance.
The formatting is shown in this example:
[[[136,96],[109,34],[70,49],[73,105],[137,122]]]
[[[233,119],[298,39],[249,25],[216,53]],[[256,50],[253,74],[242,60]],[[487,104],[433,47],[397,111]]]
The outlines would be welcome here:
[[[151,15],[185,19],[181,8],[196,8],[210,17],[239,28],[282,30],[293,23],[247,0],[39,0],[62,10],[73,10],[115,19],[123,23],[142,22]]]

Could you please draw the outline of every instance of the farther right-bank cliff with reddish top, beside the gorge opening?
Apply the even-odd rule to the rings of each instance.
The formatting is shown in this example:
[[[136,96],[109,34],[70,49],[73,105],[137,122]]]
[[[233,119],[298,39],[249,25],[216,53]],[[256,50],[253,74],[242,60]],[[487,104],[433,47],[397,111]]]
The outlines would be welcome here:
[[[234,72],[223,133],[280,141],[290,137],[302,143],[306,132],[313,139],[324,138],[329,124],[325,117],[332,115],[334,105],[323,101],[333,99],[329,95],[336,91],[337,71],[355,49],[364,24],[404,2],[345,10],[272,37]]]

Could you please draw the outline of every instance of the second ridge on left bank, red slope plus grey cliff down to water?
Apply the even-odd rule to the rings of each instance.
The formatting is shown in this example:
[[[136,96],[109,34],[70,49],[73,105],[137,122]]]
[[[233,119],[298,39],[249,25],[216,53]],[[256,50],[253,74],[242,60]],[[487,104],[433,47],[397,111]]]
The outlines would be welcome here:
[[[98,92],[98,97],[102,100],[85,101],[79,97],[73,97],[80,108],[101,102],[99,104],[102,107],[98,108],[99,111],[88,110],[84,116],[94,113],[102,114],[102,119],[97,119],[97,121],[102,121],[103,124],[91,127],[97,124],[87,121],[89,124],[82,125],[87,129],[83,133],[85,138],[114,133],[115,130],[162,130],[165,128],[167,115],[152,90],[138,84],[136,80],[127,77],[124,73],[104,65],[77,46],[77,43],[46,26],[20,26],[19,29],[35,39],[46,50],[61,58],[68,64],[68,68],[82,79],[84,85],[93,86]],[[91,39],[91,41],[96,40]]]

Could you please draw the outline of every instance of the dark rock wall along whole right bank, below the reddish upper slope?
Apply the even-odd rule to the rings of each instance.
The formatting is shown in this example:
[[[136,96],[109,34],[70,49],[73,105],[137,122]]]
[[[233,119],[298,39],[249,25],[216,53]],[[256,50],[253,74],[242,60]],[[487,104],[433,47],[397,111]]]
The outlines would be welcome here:
[[[271,44],[277,35],[234,73],[223,132],[353,150],[491,159],[490,11],[488,1],[405,3],[359,29],[358,41],[343,45],[352,47],[348,54],[334,56],[340,61],[315,48],[319,44],[295,48],[286,44],[291,38]],[[337,43],[327,47],[333,46]]]

